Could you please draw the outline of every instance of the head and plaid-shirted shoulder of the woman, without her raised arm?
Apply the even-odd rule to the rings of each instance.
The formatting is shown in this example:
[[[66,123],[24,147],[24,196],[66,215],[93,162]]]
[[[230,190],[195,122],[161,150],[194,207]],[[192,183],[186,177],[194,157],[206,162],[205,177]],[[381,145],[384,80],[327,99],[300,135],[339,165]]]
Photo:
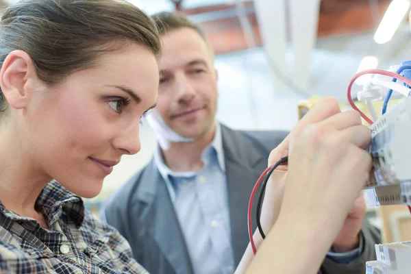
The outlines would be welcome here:
[[[76,195],[95,197],[140,149],[153,22],[118,1],[27,0],[5,10],[0,43],[0,273],[144,273]]]

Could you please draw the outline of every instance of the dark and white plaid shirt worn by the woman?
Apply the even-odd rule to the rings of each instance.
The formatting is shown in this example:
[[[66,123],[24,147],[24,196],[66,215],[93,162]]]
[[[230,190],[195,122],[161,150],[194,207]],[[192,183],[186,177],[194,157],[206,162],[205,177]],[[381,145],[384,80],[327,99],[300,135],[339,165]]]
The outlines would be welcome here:
[[[58,182],[42,190],[36,208],[50,229],[0,202],[0,273],[147,274],[119,232],[97,221]]]

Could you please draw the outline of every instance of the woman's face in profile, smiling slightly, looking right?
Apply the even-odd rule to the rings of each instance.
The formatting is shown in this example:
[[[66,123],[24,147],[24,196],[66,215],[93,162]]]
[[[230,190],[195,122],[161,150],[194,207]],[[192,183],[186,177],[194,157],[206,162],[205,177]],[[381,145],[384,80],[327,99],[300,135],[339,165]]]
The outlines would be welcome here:
[[[140,119],[155,105],[158,82],[155,56],[145,47],[105,53],[97,66],[31,92],[15,115],[18,138],[41,172],[94,197],[121,155],[140,150]]]

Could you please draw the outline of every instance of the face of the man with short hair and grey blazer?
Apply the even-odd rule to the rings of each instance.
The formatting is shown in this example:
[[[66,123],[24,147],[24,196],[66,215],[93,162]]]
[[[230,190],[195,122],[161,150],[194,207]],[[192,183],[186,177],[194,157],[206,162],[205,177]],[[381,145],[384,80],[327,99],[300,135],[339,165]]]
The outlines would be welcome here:
[[[174,132],[199,138],[212,129],[217,108],[217,74],[206,42],[184,27],[162,36],[156,109]]]

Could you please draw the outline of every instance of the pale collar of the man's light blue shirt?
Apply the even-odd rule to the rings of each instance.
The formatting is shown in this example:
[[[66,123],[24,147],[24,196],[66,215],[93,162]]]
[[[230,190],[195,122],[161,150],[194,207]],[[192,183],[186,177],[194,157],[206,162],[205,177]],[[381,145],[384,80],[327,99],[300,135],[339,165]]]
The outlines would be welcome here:
[[[217,160],[219,162],[219,166],[223,172],[225,172],[225,162],[224,162],[224,151],[223,151],[223,136],[221,134],[221,125],[220,123],[216,122],[216,132],[214,133],[214,138],[212,139],[212,142],[206,149],[204,149],[203,155],[201,158],[206,158],[206,151],[208,151],[210,148],[214,149],[216,151],[217,155]],[[209,154],[208,154],[209,155]],[[163,179],[166,182],[169,182],[169,175],[173,177],[191,177],[192,175],[195,175],[195,172],[192,171],[186,171],[186,172],[174,172],[169,169],[169,166],[167,166],[164,163],[164,159],[162,157],[162,152],[160,149],[160,146],[157,145],[155,147],[154,151],[154,161],[155,164],[158,167],[158,171],[162,175]]]

